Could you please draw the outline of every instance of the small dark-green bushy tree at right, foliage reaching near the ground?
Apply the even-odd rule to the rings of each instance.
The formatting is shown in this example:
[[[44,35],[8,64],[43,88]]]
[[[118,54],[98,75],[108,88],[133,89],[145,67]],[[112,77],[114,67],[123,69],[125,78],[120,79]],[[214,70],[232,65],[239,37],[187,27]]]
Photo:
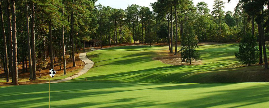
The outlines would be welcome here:
[[[244,65],[256,64],[259,57],[257,45],[254,35],[245,35],[239,43],[239,51],[235,52],[236,59]]]

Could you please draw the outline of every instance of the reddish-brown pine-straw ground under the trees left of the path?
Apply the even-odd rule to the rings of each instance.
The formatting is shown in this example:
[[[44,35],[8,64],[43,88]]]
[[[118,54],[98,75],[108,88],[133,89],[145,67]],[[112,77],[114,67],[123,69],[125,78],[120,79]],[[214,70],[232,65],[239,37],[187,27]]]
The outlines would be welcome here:
[[[83,50],[82,50],[83,52]],[[37,58],[38,59],[38,58]],[[49,68],[50,68],[50,58],[47,58],[46,60],[48,60],[48,65],[46,68],[44,68],[41,71],[41,78],[39,78],[39,69],[36,69],[36,77],[37,80],[28,80],[29,79],[29,73],[28,72],[22,72],[22,63],[18,64],[18,78],[19,78],[19,85],[25,85],[25,84],[38,84],[38,83],[44,83],[44,82],[48,82],[49,80]],[[68,74],[68,76],[74,75],[75,73],[78,73],[79,70],[83,69],[85,63],[83,61],[81,61],[79,59],[79,54],[75,54],[75,60],[76,60],[76,67],[73,67],[73,63],[72,63],[72,59],[68,56],[66,56],[66,73]],[[28,62],[27,62],[28,64]],[[38,65],[38,64],[37,64]],[[63,68],[63,64],[62,64],[62,68]],[[27,69],[29,70],[29,65],[27,67]],[[65,77],[68,77],[67,75],[64,76],[63,75],[63,69],[60,69],[60,65],[58,62],[58,58],[55,58],[55,62],[54,62],[54,70],[56,70],[57,72],[57,77],[54,77],[54,80],[51,81],[55,81],[59,80],[59,79],[63,79]],[[2,81],[5,81],[5,74],[3,73],[4,71],[1,70],[0,73],[0,79]],[[11,80],[11,77],[10,77]],[[0,82],[0,85],[12,85],[11,82]]]

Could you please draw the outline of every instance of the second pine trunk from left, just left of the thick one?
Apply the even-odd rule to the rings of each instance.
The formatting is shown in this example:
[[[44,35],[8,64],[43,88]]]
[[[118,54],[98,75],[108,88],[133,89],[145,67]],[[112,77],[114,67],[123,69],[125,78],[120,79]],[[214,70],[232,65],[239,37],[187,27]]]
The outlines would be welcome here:
[[[6,0],[6,15],[7,15],[7,31],[8,31],[8,44],[9,44],[9,71],[11,72],[11,79],[14,80],[13,72],[13,51],[12,51],[12,24],[11,24],[11,12],[10,12],[10,1]]]

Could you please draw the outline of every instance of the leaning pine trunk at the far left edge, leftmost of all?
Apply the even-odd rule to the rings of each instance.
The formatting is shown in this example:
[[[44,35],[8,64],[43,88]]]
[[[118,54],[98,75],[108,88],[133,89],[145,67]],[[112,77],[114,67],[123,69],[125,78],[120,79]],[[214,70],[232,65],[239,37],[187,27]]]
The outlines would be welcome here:
[[[8,68],[8,57],[7,57],[7,47],[6,47],[6,33],[5,33],[5,27],[4,27],[4,18],[3,18],[3,12],[2,12],[2,1],[0,1],[0,14],[1,14],[1,27],[2,27],[2,34],[3,34],[3,41],[4,41],[4,62],[5,62],[5,67],[4,69],[6,70],[6,82],[9,82],[9,68]]]

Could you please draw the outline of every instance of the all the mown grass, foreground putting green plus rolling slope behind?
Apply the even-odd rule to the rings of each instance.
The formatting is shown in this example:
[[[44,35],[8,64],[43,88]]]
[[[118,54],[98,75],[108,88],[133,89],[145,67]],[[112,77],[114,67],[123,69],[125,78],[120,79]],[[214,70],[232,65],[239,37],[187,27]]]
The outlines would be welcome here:
[[[88,52],[95,62],[92,69],[76,79],[51,84],[51,108],[267,108],[268,83],[227,83],[255,80],[238,74],[263,70],[260,65],[245,69],[238,63],[237,44],[200,46],[199,65],[152,59],[167,56],[166,50],[122,46]],[[1,108],[49,107],[48,84],[0,87],[0,93]]]

